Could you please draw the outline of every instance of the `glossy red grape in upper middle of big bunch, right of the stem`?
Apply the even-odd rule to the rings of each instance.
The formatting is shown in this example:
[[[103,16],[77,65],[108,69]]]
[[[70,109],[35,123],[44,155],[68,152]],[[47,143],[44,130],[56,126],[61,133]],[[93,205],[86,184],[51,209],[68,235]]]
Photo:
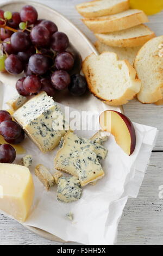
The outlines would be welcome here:
[[[35,26],[30,32],[30,39],[37,47],[46,47],[50,42],[50,33],[43,26]]]

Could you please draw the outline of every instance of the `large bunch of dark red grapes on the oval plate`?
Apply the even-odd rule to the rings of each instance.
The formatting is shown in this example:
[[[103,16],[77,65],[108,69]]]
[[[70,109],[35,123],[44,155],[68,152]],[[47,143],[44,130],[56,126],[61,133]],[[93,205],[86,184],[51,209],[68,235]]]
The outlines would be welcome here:
[[[54,96],[56,90],[66,88],[73,95],[84,94],[87,88],[84,77],[71,76],[74,54],[67,50],[67,35],[59,32],[54,22],[37,18],[37,11],[31,5],[25,5],[20,13],[4,13],[0,9],[4,52],[0,57],[0,71],[12,75],[24,71],[24,77],[16,83],[18,93],[23,96],[41,90]]]

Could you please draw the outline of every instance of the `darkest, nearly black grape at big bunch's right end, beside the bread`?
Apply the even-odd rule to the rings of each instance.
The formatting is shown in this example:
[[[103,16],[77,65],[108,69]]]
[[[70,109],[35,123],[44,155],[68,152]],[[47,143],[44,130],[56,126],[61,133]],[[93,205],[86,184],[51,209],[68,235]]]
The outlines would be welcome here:
[[[68,90],[74,96],[83,95],[86,92],[87,83],[84,76],[79,74],[71,76],[71,83],[68,86]]]

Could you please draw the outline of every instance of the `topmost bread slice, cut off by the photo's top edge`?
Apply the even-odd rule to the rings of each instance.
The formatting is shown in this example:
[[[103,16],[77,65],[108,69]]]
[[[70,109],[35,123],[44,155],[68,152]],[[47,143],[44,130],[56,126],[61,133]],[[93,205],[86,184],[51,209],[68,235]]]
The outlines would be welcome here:
[[[128,0],[94,0],[77,4],[76,8],[83,17],[92,18],[121,13],[129,9]]]

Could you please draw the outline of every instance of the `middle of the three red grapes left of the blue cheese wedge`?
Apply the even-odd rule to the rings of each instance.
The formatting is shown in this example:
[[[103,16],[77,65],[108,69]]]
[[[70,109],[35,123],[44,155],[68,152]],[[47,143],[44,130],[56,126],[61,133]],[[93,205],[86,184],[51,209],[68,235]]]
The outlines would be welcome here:
[[[5,120],[0,124],[0,132],[7,139],[16,139],[21,135],[22,129],[15,121]]]

